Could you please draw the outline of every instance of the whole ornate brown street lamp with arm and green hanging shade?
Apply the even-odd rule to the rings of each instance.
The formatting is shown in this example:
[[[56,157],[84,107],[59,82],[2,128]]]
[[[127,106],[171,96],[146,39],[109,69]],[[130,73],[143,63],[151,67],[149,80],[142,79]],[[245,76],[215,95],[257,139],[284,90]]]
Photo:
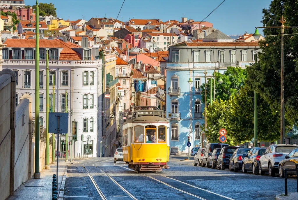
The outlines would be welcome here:
[[[284,48],[283,48],[283,35],[285,28],[297,28],[298,26],[285,26],[285,18],[280,18],[281,26],[267,26],[256,27],[256,31],[252,35],[254,39],[260,38],[260,33],[257,28],[280,28],[281,29],[281,79],[280,79],[280,144],[285,143],[285,87],[284,87]]]

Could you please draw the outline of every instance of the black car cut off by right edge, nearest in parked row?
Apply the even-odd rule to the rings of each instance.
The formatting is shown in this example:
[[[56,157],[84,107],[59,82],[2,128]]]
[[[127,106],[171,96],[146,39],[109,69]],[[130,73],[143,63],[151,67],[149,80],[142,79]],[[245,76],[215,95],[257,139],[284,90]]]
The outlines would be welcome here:
[[[284,171],[285,169],[287,169],[288,174],[297,175],[296,174],[297,167],[298,167],[298,148],[295,148],[288,154],[288,156],[285,156],[285,159],[280,161],[278,165],[278,173],[281,178],[284,178],[285,177]]]

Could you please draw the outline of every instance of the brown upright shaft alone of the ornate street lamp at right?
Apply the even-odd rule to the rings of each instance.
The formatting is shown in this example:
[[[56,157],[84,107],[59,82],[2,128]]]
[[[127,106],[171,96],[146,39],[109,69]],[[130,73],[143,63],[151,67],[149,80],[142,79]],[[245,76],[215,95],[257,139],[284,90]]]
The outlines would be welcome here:
[[[281,25],[281,88],[280,88],[280,144],[285,144],[285,86],[284,86],[284,49],[283,49],[283,34],[284,25]]]

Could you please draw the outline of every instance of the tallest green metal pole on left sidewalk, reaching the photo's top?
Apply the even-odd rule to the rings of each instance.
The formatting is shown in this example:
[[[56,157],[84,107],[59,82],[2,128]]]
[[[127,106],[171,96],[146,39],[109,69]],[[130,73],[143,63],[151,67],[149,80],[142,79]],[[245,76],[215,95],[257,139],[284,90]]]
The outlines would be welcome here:
[[[39,7],[36,0],[36,19],[39,21]],[[35,26],[35,172],[34,179],[40,179],[39,172],[39,26]]]

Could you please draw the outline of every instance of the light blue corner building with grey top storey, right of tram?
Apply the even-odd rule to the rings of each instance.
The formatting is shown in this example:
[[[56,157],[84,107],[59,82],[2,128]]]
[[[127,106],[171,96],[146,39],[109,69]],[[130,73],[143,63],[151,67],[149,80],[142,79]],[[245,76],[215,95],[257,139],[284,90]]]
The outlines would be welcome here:
[[[200,85],[214,71],[224,73],[228,66],[245,68],[254,62],[260,50],[257,42],[181,42],[169,47],[167,62],[166,113],[170,121],[170,153],[188,152],[187,136],[192,147],[202,146],[201,124],[205,105]],[[192,77],[192,83],[187,81]],[[209,79],[208,79],[209,80]],[[203,145],[207,143],[204,137]]]

